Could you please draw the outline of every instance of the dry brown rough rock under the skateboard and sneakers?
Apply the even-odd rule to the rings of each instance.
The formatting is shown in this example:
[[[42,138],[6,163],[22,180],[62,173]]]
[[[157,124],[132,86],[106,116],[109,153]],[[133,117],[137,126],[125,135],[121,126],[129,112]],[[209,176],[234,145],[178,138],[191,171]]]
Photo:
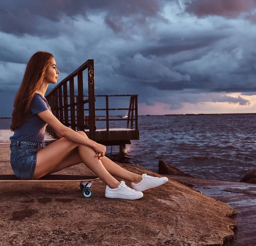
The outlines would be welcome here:
[[[12,174],[9,144],[2,144],[0,153],[0,173]],[[81,163],[59,174],[92,173]],[[230,218],[235,209],[172,179],[144,191],[140,200],[106,198],[101,180],[91,188],[93,197],[85,199],[79,183],[0,183],[2,245],[221,245],[237,225]]]

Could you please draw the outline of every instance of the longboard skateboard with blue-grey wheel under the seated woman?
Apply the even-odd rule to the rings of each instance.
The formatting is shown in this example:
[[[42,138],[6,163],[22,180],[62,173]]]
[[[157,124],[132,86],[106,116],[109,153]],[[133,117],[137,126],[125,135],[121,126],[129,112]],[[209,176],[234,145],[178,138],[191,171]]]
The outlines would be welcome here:
[[[97,176],[49,174],[39,179],[27,180],[18,179],[15,175],[0,175],[0,182],[80,182],[80,189],[85,198],[93,195],[90,186],[97,179]]]

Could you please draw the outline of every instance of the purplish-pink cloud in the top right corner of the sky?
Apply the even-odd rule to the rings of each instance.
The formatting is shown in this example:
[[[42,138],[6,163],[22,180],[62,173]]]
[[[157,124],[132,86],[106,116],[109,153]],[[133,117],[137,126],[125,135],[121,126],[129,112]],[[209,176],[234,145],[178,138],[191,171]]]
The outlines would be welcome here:
[[[190,0],[185,3],[186,12],[198,17],[220,15],[238,17],[242,12],[252,11],[255,0]]]

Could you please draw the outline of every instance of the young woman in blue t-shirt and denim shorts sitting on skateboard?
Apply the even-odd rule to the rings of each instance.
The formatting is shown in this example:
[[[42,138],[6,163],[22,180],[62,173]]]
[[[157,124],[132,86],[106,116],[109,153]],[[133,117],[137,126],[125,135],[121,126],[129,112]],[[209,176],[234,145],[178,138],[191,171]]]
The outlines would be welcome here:
[[[46,174],[84,162],[106,184],[105,196],[139,199],[141,191],[167,182],[166,177],[134,174],[105,156],[106,147],[90,140],[83,131],[64,126],[53,114],[44,97],[49,84],[56,84],[56,62],[49,52],[36,52],[29,59],[12,113],[10,162],[19,179],[38,179]],[[42,147],[49,124],[58,140]],[[113,176],[131,182],[132,188]]]

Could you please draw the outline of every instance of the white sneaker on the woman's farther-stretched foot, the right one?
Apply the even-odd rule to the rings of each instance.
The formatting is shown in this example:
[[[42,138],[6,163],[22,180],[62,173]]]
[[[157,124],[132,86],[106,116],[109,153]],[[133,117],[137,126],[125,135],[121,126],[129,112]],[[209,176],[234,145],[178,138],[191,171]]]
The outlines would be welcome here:
[[[168,181],[167,177],[158,178],[158,177],[149,176],[147,174],[142,174],[142,180],[137,184],[134,184],[133,182],[131,182],[131,187],[135,191],[145,191],[147,189],[154,188],[159,185],[163,185],[167,181]]]

